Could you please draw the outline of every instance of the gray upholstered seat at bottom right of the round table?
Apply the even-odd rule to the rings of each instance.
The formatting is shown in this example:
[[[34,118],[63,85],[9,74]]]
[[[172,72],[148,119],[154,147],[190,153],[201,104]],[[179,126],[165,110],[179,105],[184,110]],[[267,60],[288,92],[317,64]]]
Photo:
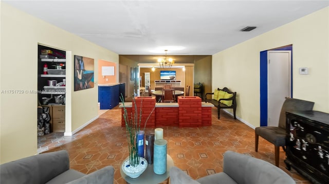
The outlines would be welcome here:
[[[224,153],[223,172],[194,180],[179,168],[172,167],[170,169],[170,183],[293,184],[296,182],[287,173],[267,161],[226,151]]]

